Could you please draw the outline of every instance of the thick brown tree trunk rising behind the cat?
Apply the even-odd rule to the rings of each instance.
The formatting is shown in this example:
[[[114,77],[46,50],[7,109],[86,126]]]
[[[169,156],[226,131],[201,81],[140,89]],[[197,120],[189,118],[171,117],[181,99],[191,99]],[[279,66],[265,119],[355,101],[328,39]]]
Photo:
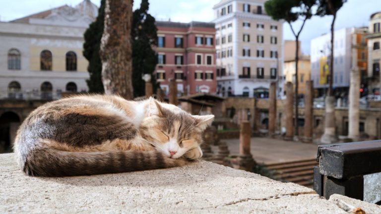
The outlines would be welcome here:
[[[102,82],[105,94],[133,98],[130,30],[132,0],[106,0],[101,40]]]

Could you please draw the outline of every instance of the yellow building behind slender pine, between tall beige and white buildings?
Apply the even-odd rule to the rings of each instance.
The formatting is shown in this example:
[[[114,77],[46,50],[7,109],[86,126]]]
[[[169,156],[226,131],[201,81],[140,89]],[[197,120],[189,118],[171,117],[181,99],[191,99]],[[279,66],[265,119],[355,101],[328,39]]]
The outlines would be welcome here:
[[[295,86],[296,80],[296,65],[295,59],[289,59],[284,61],[283,75],[285,82],[292,82]],[[311,79],[310,69],[310,56],[302,55],[299,57],[298,63],[298,94],[304,95],[306,93],[306,81]]]

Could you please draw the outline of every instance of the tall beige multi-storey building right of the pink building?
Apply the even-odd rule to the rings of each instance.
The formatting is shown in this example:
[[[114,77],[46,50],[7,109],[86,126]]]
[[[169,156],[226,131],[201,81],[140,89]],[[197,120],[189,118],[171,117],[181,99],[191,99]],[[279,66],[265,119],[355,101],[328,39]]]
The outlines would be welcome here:
[[[221,0],[214,5],[217,94],[267,98],[282,75],[283,22],[264,11],[265,0]]]

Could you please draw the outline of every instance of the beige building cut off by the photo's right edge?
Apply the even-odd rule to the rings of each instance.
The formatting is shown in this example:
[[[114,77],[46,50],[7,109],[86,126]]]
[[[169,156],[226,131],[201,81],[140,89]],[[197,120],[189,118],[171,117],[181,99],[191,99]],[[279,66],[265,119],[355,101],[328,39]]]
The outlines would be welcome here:
[[[381,12],[371,15],[369,21],[369,34],[368,38],[368,77],[369,93],[380,95],[381,81],[380,81],[380,63],[381,63]]]

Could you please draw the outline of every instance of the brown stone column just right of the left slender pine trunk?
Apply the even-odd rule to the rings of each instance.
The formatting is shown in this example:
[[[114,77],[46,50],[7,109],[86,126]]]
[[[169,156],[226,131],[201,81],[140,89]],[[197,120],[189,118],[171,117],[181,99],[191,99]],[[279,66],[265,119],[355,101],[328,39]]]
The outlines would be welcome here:
[[[314,82],[306,82],[306,95],[304,98],[304,141],[311,143],[313,136],[313,117],[314,117]]]

